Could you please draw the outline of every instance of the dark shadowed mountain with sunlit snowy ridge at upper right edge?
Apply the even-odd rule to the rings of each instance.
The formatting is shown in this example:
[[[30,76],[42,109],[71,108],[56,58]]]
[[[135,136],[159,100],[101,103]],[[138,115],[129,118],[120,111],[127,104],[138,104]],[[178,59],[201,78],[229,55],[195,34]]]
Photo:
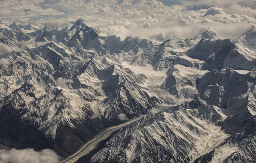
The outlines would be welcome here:
[[[236,45],[230,39],[201,41],[192,49],[186,51],[189,57],[204,60],[204,69],[233,69],[251,70],[256,66],[256,55]]]

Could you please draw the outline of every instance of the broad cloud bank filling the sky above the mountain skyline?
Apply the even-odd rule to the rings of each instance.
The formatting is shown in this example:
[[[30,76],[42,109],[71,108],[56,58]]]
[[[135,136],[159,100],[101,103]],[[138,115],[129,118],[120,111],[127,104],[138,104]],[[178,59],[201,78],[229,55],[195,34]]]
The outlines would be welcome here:
[[[162,42],[208,27],[238,38],[256,24],[255,0],[0,0],[0,20],[66,27],[79,18],[103,35]]]

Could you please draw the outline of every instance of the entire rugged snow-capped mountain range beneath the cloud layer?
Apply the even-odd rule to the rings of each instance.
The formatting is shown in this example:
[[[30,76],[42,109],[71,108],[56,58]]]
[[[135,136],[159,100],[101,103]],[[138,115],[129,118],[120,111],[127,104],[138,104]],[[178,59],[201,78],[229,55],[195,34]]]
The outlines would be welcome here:
[[[0,29],[0,147],[63,163],[254,163],[255,27],[158,44],[73,26]]]

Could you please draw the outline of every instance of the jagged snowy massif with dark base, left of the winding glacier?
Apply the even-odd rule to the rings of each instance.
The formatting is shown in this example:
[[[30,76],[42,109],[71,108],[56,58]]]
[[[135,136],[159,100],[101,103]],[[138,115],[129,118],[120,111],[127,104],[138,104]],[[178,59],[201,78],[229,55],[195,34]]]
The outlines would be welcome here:
[[[42,31],[37,39],[50,33]],[[15,37],[9,37],[13,43],[3,38],[4,45],[21,47]],[[67,157],[98,131],[125,121],[120,114],[133,118],[161,103],[143,86],[146,76],[120,63],[85,61],[67,45],[45,41],[0,55],[0,139],[10,146],[51,148]]]

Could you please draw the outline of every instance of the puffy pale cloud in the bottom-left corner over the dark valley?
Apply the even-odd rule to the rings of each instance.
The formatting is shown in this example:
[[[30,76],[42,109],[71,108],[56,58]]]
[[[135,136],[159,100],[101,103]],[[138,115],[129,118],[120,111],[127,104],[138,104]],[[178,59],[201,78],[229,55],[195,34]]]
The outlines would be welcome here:
[[[60,157],[50,149],[0,150],[0,163],[59,163]]]

